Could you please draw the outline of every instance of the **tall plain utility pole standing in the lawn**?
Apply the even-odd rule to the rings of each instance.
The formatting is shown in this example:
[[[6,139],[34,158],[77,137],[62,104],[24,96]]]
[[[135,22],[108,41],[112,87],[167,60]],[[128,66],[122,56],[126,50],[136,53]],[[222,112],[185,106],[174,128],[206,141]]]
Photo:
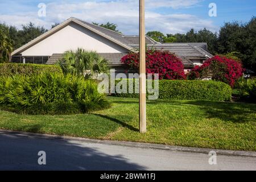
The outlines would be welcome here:
[[[139,132],[146,133],[145,0],[139,0]]]

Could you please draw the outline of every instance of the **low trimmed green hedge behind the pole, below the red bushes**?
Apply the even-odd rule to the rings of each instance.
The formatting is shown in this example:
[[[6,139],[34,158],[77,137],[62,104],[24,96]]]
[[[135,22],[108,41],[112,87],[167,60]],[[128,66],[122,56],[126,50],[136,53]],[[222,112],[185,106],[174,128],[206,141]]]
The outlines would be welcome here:
[[[115,85],[120,80],[115,81]],[[133,84],[135,87],[135,84]],[[154,86],[154,84],[152,84]],[[129,81],[127,81],[127,89]],[[139,94],[115,93],[116,97],[138,98]],[[147,94],[148,96],[148,94]],[[159,80],[159,99],[230,101],[232,89],[228,84],[212,80]]]

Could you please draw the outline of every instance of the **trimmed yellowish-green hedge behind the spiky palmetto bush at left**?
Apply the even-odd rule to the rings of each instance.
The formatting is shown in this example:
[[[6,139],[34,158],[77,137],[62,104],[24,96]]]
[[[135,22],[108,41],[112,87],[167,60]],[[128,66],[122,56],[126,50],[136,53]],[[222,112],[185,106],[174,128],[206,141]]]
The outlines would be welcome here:
[[[42,72],[62,73],[62,70],[57,65],[46,64],[22,64],[22,63],[1,63],[0,76],[10,75],[34,75]]]

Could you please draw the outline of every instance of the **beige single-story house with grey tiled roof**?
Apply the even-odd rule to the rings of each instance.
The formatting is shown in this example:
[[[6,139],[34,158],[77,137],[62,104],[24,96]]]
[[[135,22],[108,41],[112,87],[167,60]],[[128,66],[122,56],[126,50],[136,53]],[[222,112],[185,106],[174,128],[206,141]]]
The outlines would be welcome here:
[[[207,43],[159,43],[146,36],[147,47],[168,50],[183,61],[185,69],[201,65],[212,55]],[[14,63],[55,64],[68,50],[84,48],[96,51],[109,61],[116,72],[124,72],[121,58],[139,48],[139,36],[123,35],[118,32],[69,18],[45,34],[16,49],[11,61]]]

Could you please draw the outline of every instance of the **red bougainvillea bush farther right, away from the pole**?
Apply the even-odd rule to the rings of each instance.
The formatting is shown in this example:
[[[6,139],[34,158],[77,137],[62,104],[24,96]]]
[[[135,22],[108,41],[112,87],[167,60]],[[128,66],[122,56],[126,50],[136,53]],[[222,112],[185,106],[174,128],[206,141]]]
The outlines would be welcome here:
[[[234,86],[238,78],[242,77],[244,69],[240,61],[228,59],[225,56],[214,56],[203,65],[196,66],[188,74],[189,80],[212,78]]]

